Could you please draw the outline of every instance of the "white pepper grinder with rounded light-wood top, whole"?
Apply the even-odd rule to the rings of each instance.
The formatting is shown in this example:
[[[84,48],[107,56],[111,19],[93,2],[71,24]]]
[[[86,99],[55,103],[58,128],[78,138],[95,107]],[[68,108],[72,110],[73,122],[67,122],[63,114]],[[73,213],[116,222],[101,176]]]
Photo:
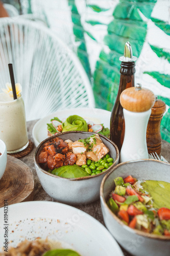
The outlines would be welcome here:
[[[140,83],[120,94],[125,117],[125,138],[120,151],[120,162],[149,158],[146,134],[154,103],[154,93],[142,88]]]

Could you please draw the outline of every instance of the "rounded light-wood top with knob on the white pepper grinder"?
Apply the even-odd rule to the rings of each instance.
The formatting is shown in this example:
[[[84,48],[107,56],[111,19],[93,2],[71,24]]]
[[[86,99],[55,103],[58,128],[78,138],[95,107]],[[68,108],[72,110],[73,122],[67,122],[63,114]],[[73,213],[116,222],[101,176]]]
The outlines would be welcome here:
[[[131,112],[145,112],[155,103],[155,95],[152,91],[141,88],[137,83],[135,87],[128,88],[120,94],[120,103],[124,109]]]

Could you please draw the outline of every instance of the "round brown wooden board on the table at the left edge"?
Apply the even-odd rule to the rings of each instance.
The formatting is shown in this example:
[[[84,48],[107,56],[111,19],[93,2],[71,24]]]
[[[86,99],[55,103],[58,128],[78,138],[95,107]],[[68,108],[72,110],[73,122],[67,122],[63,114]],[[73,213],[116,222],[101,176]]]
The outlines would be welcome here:
[[[0,207],[4,200],[8,205],[32,201],[34,198],[34,179],[32,170],[19,159],[7,156],[7,167],[0,180]]]

